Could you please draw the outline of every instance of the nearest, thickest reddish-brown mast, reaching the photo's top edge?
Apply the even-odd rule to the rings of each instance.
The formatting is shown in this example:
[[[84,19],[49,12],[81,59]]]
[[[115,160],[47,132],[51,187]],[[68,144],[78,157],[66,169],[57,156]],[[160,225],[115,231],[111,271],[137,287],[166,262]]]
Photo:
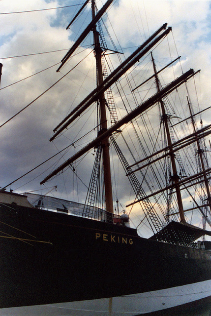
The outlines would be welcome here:
[[[95,17],[95,0],[91,0],[92,20]],[[99,33],[96,30],[96,25],[93,27],[94,37],[94,53],[96,59],[97,69],[97,86],[103,82],[103,71],[102,71],[102,48],[100,47]],[[102,92],[99,95],[99,115],[100,115],[100,131],[99,133],[107,131],[107,117],[106,117],[106,100],[105,94]],[[103,175],[104,175],[104,188],[105,188],[105,203],[106,211],[113,214],[113,196],[112,196],[112,182],[111,182],[111,166],[110,166],[110,155],[109,155],[109,137],[102,140],[101,144],[102,157],[103,157]],[[112,215],[109,220],[112,219]],[[113,219],[112,219],[113,221]]]

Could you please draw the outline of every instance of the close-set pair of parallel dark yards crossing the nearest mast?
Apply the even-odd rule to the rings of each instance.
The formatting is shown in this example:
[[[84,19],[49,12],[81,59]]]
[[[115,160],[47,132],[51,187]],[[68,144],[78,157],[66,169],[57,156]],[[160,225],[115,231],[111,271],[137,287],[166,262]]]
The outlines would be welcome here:
[[[96,87],[69,115],[67,115],[60,124],[54,129],[54,132],[64,122],[70,118],[50,139],[52,141],[57,135],[60,134],[75,118],[79,117],[94,101],[96,101],[102,92],[105,92],[114,82],[116,82],[130,67],[132,67],[141,57],[143,57],[159,40],[166,36],[171,28],[165,30],[159,37],[155,38],[164,28],[166,24],[163,24],[148,40],[146,40],[141,46],[139,46],[125,61],[121,63],[104,81]],[[155,38],[155,40],[153,40]],[[153,41],[152,41],[153,40]],[[148,45],[148,46],[147,46]]]

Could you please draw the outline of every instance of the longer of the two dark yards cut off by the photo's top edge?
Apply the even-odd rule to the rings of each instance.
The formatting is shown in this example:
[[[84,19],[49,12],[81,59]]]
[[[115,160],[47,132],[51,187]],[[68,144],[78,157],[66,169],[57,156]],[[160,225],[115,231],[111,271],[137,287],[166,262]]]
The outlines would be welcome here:
[[[105,13],[109,5],[113,2],[114,0],[107,0],[107,2],[104,4],[104,6],[99,10],[99,12],[96,14],[94,19],[92,19],[91,23],[87,26],[87,28],[84,30],[84,32],[80,35],[78,40],[72,45],[70,50],[66,53],[66,55],[63,57],[61,60],[61,65],[57,69],[57,72],[60,71],[61,67],[65,64],[65,62],[70,58],[70,56],[74,53],[76,48],[81,44],[81,42],[86,38],[86,36],[90,33],[96,22],[101,18],[101,16]]]

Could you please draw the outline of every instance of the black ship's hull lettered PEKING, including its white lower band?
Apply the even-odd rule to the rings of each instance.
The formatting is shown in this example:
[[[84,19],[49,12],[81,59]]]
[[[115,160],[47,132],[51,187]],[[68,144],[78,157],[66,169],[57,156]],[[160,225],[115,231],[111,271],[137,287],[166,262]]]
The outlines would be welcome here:
[[[1,205],[0,231],[3,309],[72,302],[83,315],[139,315],[211,296],[209,251],[17,205]]]

